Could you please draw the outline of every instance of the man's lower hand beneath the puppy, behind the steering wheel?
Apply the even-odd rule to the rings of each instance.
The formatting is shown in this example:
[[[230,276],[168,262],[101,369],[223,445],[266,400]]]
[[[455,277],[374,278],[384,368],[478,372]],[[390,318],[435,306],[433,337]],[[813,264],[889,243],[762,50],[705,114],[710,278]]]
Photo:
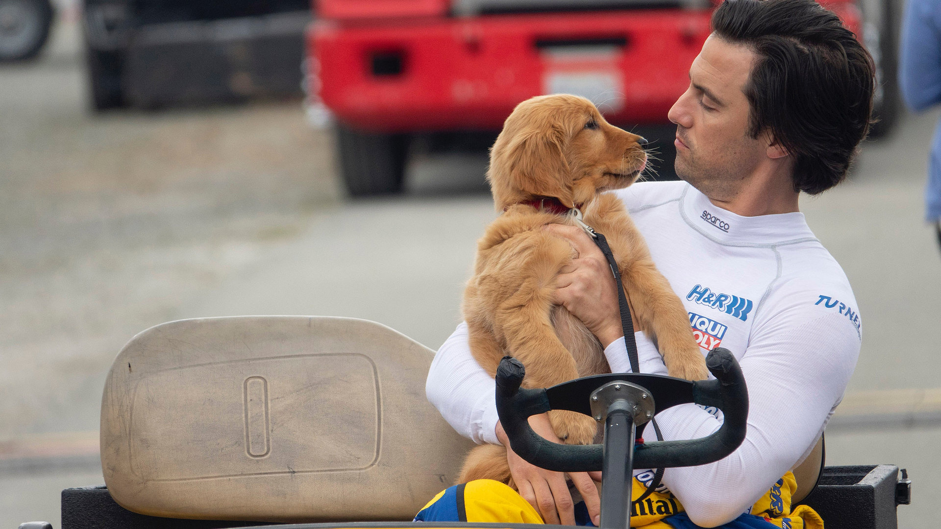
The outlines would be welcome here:
[[[555,437],[549,416],[545,413],[530,417],[530,426],[535,433],[554,442],[562,442]],[[506,437],[503,426],[498,422],[496,427],[497,439],[506,447],[506,461],[510,465],[510,473],[519,489],[519,495],[542,515],[546,523],[562,523],[575,525],[575,505],[572,495],[568,492],[565,473],[554,473],[536,467],[519,457],[510,448],[510,441]],[[601,479],[601,473],[569,473],[576,489],[582,493],[582,500],[588,507],[588,516],[598,526],[601,514],[601,500],[598,497],[598,487],[593,478]]]

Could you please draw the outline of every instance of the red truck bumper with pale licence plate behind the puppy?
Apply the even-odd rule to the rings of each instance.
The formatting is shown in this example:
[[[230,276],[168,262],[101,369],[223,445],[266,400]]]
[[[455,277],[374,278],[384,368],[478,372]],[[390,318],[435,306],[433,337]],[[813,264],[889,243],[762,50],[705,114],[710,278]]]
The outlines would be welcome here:
[[[856,8],[837,2],[847,24]],[[663,123],[689,85],[711,9],[338,23],[307,33],[314,102],[362,130],[500,129],[514,106],[576,93],[616,124]]]

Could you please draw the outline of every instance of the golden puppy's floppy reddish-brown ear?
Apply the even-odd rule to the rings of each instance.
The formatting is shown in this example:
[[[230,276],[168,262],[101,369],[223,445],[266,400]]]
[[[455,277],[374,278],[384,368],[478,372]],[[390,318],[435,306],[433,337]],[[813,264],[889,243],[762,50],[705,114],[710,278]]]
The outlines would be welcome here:
[[[524,193],[554,197],[566,207],[574,207],[565,142],[566,132],[556,125],[526,129],[513,136],[502,157],[510,184]]]

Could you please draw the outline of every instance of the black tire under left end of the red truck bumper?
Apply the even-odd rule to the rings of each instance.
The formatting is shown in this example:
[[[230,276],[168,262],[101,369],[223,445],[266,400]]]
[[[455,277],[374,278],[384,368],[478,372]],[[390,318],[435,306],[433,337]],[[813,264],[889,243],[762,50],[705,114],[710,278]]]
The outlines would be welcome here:
[[[402,190],[408,136],[366,133],[338,123],[337,146],[343,182],[353,197]]]

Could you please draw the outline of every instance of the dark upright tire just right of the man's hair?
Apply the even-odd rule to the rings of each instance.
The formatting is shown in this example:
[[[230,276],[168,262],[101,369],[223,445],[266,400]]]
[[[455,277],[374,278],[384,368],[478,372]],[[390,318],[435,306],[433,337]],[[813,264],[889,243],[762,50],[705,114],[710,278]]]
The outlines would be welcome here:
[[[892,0],[869,0],[864,6],[864,40],[876,65],[876,92],[872,100],[869,137],[882,137],[892,130],[899,116],[899,35]]]

